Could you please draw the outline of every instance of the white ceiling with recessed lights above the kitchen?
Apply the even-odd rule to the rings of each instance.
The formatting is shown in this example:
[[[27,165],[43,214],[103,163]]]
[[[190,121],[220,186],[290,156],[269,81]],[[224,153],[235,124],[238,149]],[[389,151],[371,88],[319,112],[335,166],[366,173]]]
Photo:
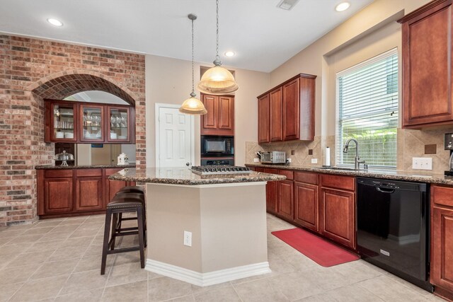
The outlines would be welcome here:
[[[348,1],[338,13],[341,0],[300,0],[291,11],[277,8],[280,0],[219,0],[222,63],[270,72],[373,0]],[[210,63],[214,0],[0,0],[0,32],[190,60],[189,13],[198,16],[195,61]]]

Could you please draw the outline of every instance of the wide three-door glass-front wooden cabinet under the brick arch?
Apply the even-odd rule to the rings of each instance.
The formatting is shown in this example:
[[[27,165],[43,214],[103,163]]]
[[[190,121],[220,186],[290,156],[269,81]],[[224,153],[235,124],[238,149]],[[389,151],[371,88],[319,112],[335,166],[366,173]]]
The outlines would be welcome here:
[[[45,100],[45,141],[134,144],[132,106]]]

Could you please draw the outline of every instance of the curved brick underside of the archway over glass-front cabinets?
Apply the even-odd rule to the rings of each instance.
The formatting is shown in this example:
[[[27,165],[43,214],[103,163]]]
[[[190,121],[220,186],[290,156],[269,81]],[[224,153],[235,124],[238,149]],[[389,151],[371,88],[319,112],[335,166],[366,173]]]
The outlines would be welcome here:
[[[130,105],[135,105],[132,93],[127,88],[121,88],[111,79],[104,79],[102,74],[95,72],[79,74],[75,71],[62,72],[46,76],[28,88],[38,98],[62,100],[69,95],[83,91],[104,91],[116,95]]]

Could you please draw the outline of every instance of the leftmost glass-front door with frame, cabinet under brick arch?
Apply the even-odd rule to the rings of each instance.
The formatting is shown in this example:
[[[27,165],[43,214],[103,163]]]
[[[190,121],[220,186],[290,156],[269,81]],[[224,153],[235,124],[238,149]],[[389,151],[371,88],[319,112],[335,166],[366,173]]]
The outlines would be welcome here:
[[[53,141],[76,141],[76,104],[52,103],[50,106],[50,137]]]

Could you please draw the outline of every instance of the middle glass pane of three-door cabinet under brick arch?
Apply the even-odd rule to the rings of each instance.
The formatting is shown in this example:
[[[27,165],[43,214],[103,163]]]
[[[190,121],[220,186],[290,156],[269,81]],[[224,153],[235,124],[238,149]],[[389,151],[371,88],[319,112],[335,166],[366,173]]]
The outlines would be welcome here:
[[[81,139],[103,141],[103,122],[101,106],[81,106]]]

